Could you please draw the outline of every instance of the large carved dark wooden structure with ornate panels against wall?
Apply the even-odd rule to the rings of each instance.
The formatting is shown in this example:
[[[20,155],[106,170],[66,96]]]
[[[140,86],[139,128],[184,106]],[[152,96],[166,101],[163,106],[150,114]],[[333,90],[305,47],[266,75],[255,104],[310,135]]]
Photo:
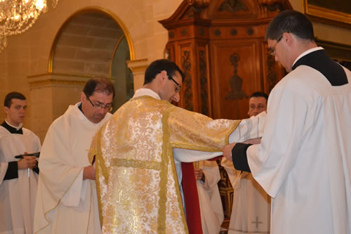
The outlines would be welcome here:
[[[185,0],[170,18],[165,56],[185,72],[180,105],[214,119],[248,117],[254,91],[269,93],[284,68],[267,53],[265,29],[285,0]]]

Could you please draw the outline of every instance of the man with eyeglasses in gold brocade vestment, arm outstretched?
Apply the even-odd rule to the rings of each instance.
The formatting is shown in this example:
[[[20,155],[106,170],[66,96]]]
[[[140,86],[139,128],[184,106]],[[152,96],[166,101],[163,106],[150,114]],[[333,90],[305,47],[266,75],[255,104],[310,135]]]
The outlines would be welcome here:
[[[152,62],[143,88],[93,139],[102,233],[202,234],[194,169],[182,162],[222,155],[262,128],[263,119],[213,120],[172,105],[184,77],[170,60]]]

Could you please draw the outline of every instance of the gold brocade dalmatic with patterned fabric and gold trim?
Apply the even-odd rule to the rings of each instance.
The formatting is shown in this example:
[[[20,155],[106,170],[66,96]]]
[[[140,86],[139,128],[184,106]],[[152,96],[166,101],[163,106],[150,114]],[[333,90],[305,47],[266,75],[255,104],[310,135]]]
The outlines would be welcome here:
[[[188,233],[172,148],[220,151],[238,124],[150,96],[119,108],[89,153],[102,233]]]

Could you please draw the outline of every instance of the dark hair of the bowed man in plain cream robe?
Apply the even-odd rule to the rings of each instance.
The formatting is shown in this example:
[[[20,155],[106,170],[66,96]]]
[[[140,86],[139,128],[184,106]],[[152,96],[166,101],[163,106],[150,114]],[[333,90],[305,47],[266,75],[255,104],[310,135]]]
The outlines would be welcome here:
[[[112,93],[114,98],[114,86],[111,80],[105,77],[95,77],[89,79],[84,86],[83,92],[87,97],[92,96],[94,92],[106,93],[107,95]]]

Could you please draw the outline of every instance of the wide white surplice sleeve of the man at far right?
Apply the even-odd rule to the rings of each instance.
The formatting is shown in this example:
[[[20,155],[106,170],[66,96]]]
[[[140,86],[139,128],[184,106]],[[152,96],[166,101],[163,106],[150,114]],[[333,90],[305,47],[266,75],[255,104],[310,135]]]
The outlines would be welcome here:
[[[303,129],[313,124],[306,119],[307,103],[296,91],[273,89],[259,145],[251,145],[247,159],[253,177],[271,197],[275,197],[298,155]],[[307,127],[306,127],[307,126]]]

